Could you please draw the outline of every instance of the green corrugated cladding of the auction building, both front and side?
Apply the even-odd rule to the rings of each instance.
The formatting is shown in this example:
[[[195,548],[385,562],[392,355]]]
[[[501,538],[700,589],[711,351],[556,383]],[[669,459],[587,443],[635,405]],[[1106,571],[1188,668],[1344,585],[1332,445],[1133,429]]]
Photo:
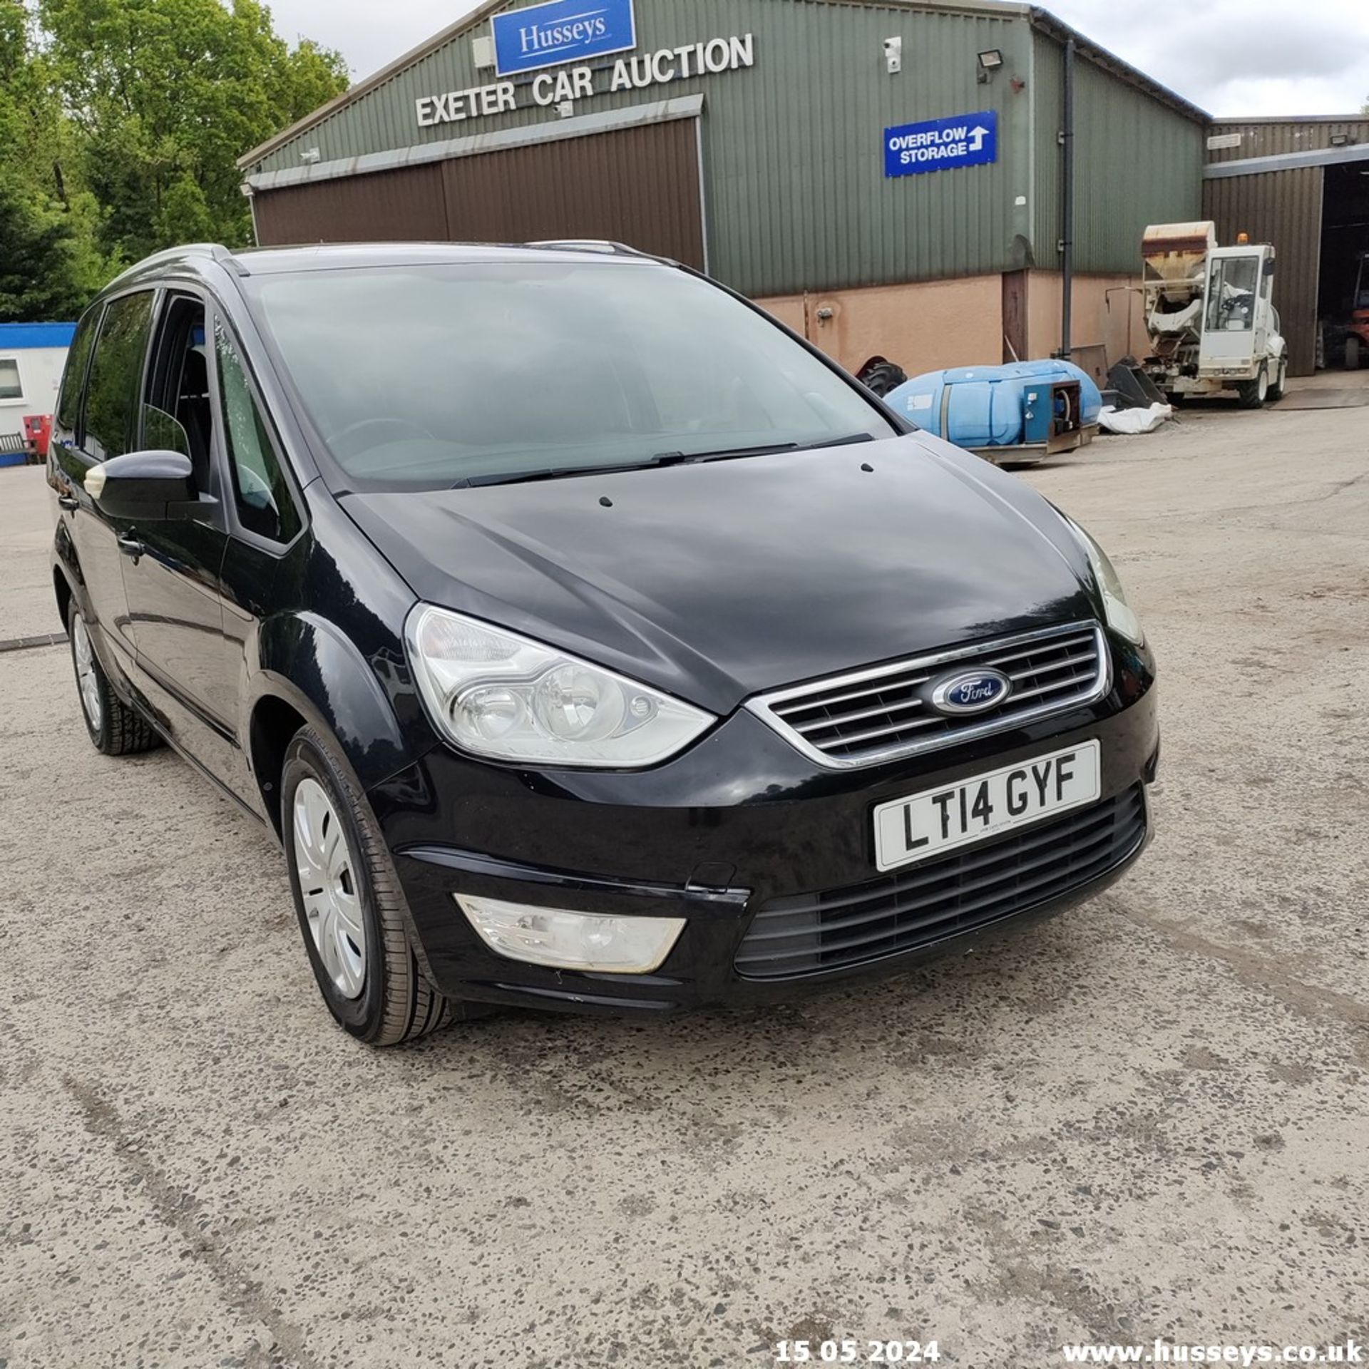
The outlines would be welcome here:
[[[709,261],[730,285],[767,296],[997,272],[1029,264],[1029,255],[1038,266],[1057,264],[1058,104],[1050,100],[1058,101],[1058,49],[1053,63],[1053,45],[1034,44],[1021,11],[637,0],[637,30],[638,53],[754,34],[749,70],[596,93],[576,107],[580,114],[704,92]],[[471,34],[485,31],[482,23],[452,38],[251,170],[297,167],[307,148],[331,162],[554,118],[530,107],[419,129],[419,96],[494,79],[471,60]],[[883,40],[895,34],[904,40],[904,68],[890,75]],[[1001,49],[1005,64],[980,85],[976,53],[987,48]],[[1079,71],[1082,111],[1099,111],[1079,140],[1079,270],[1129,270],[1140,241],[1131,219],[1144,225],[1170,205],[1191,207],[1176,208],[1175,218],[1197,214],[1202,130],[1086,62]],[[1024,88],[1014,92],[1012,78]],[[597,88],[601,82],[606,77],[596,78]],[[523,88],[519,97],[528,99]],[[886,126],[988,108],[999,119],[995,164],[884,178]]]

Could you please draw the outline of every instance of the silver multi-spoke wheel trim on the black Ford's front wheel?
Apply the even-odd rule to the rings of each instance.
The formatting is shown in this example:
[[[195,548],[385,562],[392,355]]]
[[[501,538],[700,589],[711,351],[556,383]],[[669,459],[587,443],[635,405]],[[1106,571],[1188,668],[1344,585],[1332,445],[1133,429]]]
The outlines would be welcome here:
[[[300,895],[314,946],[344,998],[366,987],[366,920],[356,860],[323,786],[301,779],[290,824]]]

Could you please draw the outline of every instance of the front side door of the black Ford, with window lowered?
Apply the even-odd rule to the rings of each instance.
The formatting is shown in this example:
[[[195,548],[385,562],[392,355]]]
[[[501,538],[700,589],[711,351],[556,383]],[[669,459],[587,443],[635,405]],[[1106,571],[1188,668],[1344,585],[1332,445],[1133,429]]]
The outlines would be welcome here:
[[[205,318],[196,292],[164,292],[141,397],[141,445],[190,457],[199,504],[190,516],[126,531],[123,589],[141,693],[177,746],[237,790],[244,761],[223,638],[227,533]]]

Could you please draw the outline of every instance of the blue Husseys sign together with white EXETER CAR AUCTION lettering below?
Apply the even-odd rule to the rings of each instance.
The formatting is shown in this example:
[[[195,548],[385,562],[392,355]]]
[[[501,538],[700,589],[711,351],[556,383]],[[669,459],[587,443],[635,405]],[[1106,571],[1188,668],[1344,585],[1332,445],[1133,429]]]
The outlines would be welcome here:
[[[632,0],[590,0],[589,4],[552,0],[550,4],[494,15],[490,23],[494,34],[494,70],[501,77],[534,70],[537,75],[531,82],[491,81],[470,90],[420,96],[416,101],[420,129],[516,110],[517,85],[527,85],[533,104],[546,107],[613,90],[643,90],[686,77],[735,71],[753,66],[756,60],[752,34],[747,33],[619,57],[612,67],[567,66],[586,57],[602,57],[635,48]],[[546,67],[561,70],[542,70]]]

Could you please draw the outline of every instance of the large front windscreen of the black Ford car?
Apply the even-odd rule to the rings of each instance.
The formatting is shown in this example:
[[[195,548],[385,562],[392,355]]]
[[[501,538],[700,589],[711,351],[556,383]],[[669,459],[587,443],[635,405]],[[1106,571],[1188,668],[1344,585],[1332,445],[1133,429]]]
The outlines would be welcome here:
[[[387,266],[249,287],[356,489],[895,431],[763,315],[654,263]]]

